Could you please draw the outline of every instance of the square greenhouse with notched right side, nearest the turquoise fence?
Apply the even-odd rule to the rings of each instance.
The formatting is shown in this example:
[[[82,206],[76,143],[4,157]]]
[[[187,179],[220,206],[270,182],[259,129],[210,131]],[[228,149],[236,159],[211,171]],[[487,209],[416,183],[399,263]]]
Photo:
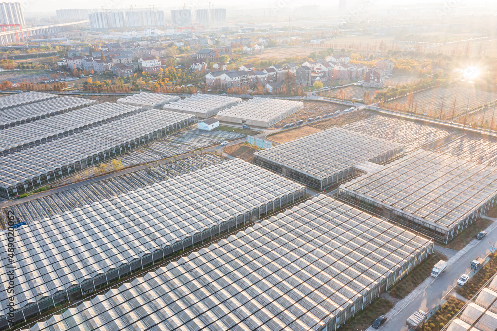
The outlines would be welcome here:
[[[219,116],[218,116],[219,117]],[[320,191],[402,155],[404,147],[342,128],[330,128],[255,152],[253,163]]]

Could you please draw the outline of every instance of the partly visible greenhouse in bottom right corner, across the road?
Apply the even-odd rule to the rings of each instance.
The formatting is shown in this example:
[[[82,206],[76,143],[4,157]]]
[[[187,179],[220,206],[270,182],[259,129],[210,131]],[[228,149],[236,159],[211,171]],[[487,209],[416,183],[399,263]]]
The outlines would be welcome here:
[[[497,330],[497,277],[477,292],[473,302],[463,307],[444,331]]]

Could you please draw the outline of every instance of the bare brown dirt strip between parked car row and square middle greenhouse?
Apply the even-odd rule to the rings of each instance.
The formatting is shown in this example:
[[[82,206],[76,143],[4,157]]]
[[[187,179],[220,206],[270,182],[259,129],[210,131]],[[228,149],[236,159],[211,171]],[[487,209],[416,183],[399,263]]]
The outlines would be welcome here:
[[[321,120],[312,124],[298,126],[292,129],[284,130],[273,135],[267,135],[267,139],[277,143],[285,143],[287,141],[295,140],[310,134],[331,128],[333,126],[342,126],[348,123],[357,122],[371,116],[366,111],[354,111],[348,114],[339,115],[326,120]]]

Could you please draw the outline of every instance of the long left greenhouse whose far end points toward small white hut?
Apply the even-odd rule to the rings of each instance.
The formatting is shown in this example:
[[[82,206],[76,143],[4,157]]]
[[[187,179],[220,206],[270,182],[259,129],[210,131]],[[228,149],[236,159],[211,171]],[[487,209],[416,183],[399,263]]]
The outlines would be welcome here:
[[[0,197],[32,191],[195,123],[192,115],[148,110],[0,157]]]

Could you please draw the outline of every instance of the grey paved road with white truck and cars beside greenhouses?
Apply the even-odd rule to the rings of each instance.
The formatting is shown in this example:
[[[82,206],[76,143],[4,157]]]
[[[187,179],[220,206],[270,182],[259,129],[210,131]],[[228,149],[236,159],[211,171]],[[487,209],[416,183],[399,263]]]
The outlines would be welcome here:
[[[444,295],[456,285],[457,279],[463,274],[468,274],[471,270],[470,263],[476,257],[485,257],[490,252],[488,242],[497,242],[497,220],[487,228],[488,235],[483,240],[474,239],[460,252],[449,259],[452,263],[441,276],[429,278],[422,283],[412,294],[397,303],[387,313],[387,323],[380,328],[381,331],[406,331],[408,330],[406,320],[415,311],[421,309],[428,312],[432,309]],[[435,247],[437,248],[437,247]],[[440,249],[440,252],[446,254],[446,249]],[[446,254],[447,255],[447,254]],[[426,288],[422,288],[423,285]],[[421,287],[421,288],[420,288]],[[406,300],[407,299],[407,300]],[[403,307],[407,302],[407,305]],[[372,322],[372,321],[371,321]],[[368,329],[374,330],[371,327]]]

